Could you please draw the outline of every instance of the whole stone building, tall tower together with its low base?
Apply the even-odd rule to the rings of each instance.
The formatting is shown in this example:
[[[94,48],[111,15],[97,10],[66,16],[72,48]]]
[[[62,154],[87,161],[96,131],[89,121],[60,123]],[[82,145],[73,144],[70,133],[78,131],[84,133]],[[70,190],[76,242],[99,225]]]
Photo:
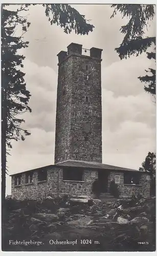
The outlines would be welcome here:
[[[89,195],[96,179],[102,193],[115,180],[122,196],[150,195],[149,173],[102,163],[101,52],[72,43],[58,53],[55,164],[11,175],[14,197]]]

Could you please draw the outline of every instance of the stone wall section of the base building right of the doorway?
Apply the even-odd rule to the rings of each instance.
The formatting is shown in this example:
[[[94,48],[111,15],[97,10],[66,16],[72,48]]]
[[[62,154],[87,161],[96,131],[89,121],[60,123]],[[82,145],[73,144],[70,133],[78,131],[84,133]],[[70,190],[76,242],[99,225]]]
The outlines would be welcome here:
[[[134,185],[134,184],[124,184],[124,175],[123,173],[119,172],[111,172],[108,177],[108,191],[109,191],[109,183],[111,180],[115,179],[116,176],[119,176],[119,191],[121,196],[131,196],[132,194],[138,195],[141,193],[144,197],[150,196],[150,180],[149,175],[147,174],[141,174],[140,178],[140,184]]]

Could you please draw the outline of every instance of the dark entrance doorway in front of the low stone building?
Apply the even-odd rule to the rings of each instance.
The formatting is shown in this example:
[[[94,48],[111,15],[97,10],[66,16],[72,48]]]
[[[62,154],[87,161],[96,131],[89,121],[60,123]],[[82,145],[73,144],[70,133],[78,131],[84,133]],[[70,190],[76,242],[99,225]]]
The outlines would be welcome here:
[[[108,175],[109,173],[107,170],[98,170],[98,181],[101,193],[107,193]]]

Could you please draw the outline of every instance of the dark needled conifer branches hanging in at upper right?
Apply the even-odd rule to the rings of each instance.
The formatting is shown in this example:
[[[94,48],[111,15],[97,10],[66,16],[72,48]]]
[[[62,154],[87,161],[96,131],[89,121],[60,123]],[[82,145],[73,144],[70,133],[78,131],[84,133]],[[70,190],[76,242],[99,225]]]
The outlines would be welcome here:
[[[155,36],[145,37],[145,30],[148,28],[150,20],[155,15],[155,5],[112,5],[114,8],[114,17],[117,12],[122,14],[122,18],[127,17],[128,23],[121,27],[120,31],[124,34],[120,47],[116,48],[120,59],[130,57],[131,55],[139,56],[151,46],[154,46],[153,52],[146,52],[147,58],[155,60]],[[155,95],[156,75],[154,69],[146,70],[143,77],[138,77],[144,82],[144,90]]]

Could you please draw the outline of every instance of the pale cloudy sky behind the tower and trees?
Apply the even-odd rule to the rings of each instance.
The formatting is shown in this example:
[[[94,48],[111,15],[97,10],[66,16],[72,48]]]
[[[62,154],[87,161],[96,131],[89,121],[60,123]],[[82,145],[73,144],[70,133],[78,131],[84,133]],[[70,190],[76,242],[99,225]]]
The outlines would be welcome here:
[[[9,174],[54,163],[55,114],[58,59],[57,54],[71,42],[83,48],[101,48],[102,52],[102,143],[103,163],[138,169],[148,151],[155,150],[155,104],[143,90],[138,76],[154,66],[145,54],[120,60],[116,47],[126,20],[118,13],[110,19],[109,5],[74,6],[95,26],[88,35],[67,35],[57,25],[51,26],[41,5],[31,6],[27,14],[31,26],[25,34],[30,42],[23,54],[27,89],[32,97],[32,113],[26,113],[26,127],[31,132],[25,141],[13,143],[8,157]],[[26,15],[26,13],[25,13]],[[155,22],[146,35],[155,35]],[[11,193],[7,177],[6,194]]]

